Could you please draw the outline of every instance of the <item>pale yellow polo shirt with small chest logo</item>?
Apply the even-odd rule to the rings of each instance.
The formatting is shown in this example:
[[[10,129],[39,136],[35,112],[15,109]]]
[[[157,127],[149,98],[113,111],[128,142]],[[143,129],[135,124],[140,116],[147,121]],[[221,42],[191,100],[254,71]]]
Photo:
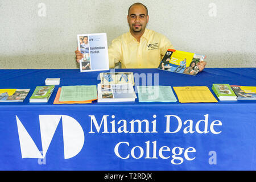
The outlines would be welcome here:
[[[158,68],[168,48],[174,49],[170,40],[158,32],[146,28],[138,42],[129,31],[109,46],[109,67],[120,62],[122,68]]]

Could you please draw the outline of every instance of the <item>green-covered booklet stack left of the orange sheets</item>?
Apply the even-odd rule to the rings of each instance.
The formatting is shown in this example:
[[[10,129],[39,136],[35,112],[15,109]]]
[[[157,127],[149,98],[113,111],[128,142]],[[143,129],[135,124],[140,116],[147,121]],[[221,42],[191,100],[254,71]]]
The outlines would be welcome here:
[[[54,85],[36,86],[30,97],[30,102],[48,102],[54,88]]]

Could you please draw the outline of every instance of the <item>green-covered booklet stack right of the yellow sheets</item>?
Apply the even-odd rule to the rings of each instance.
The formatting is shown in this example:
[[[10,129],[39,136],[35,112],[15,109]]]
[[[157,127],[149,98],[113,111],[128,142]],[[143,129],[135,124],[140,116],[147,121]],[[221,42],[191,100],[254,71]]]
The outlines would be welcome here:
[[[220,101],[237,101],[237,96],[229,84],[212,84],[212,90]]]

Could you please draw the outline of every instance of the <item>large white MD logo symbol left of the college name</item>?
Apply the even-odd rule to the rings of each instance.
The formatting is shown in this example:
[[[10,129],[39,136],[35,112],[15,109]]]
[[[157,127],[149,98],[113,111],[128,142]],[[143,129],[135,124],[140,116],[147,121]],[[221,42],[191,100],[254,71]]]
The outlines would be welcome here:
[[[38,147],[36,147],[34,140],[30,137],[30,134],[28,134],[16,115],[22,158],[43,159],[46,156],[49,144],[51,143],[60,119],[62,120],[63,126],[64,159],[73,158],[79,154],[84,145],[84,131],[76,119],[68,115],[39,115],[43,148],[42,155]]]

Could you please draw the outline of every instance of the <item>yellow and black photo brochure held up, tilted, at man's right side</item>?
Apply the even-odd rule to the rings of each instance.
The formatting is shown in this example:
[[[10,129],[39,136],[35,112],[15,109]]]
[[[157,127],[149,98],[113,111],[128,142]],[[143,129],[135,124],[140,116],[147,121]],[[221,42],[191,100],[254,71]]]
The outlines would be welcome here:
[[[198,63],[204,59],[204,55],[168,49],[158,69],[195,76],[199,72]]]

